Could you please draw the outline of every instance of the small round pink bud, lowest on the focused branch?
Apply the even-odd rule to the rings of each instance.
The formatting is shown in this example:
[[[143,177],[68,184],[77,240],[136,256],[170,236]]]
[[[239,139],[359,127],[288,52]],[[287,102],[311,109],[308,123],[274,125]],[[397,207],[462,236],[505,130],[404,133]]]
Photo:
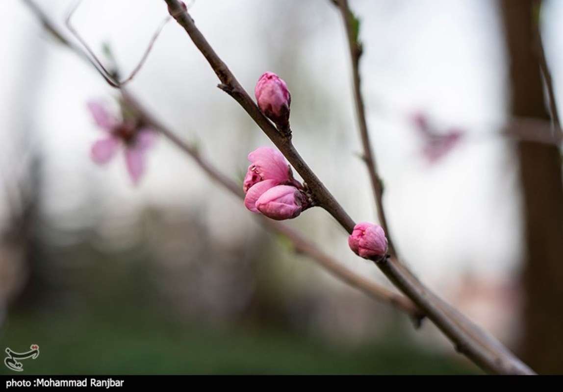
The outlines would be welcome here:
[[[360,222],[354,226],[354,231],[348,237],[348,245],[355,254],[364,259],[385,256],[387,253],[385,232],[381,226],[369,222]]]

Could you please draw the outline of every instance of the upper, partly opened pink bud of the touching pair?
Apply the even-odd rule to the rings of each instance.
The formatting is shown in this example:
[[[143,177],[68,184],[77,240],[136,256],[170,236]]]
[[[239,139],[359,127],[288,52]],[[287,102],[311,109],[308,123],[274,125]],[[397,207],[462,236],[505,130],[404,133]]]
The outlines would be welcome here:
[[[261,181],[273,180],[275,185],[294,181],[285,157],[275,148],[258,147],[248,154],[248,160],[252,164],[244,177],[244,193]]]

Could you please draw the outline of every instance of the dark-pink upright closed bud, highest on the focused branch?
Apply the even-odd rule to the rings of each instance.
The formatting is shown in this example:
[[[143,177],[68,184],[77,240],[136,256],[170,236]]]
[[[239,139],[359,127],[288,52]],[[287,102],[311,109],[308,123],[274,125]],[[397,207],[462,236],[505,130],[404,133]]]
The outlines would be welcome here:
[[[267,118],[278,126],[288,127],[291,94],[278,75],[272,72],[262,74],[256,83],[254,94],[258,107]]]

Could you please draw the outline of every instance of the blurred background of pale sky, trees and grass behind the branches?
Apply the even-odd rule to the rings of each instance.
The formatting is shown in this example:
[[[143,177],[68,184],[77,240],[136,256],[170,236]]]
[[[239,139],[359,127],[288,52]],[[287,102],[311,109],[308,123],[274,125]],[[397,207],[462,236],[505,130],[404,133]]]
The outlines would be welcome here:
[[[64,24],[73,2],[35,3],[73,39]],[[540,21],[558,94],[563,4],[350,3],[400,255],[534,370],[563,372],[560,150],[502,132],[511,116],[549,118],[530,53]],[[297,149],[353,219],[376,221],[332,2],[206,0],[189,11],[248,92],[264,71],[287,82]],[[128,75],[167,15],[162,1],[84,0],[73,25]],[[481,372],[430,322],[415,330],[294,253],[166,139],[136,187],[123,154],[93,163],[103,131],[86,103],[118,116],[117,92],[23,1],[2,1],[0,31],[0,346],[39,345],[24,373]],[[172,21],[129,91],[242,184],[248,152],[271,143],[217,83]],[[324,211],[288,224],[391,287]]]

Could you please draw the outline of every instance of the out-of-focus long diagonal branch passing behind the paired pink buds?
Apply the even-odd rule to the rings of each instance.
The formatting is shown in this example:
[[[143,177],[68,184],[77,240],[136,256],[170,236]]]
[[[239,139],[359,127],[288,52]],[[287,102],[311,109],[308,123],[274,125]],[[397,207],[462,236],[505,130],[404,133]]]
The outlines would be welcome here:
[[[87,61],[88,64],[92,65],[100,73],[100,75],[104,76],[104,79],[106,79],[106,75],[99,69],[96,63],[93,62],[91,58],[82,51],[81,48],[73,45],[68,39],[66,39],[64,35],[61,34],[59,30],[57,30],[55,25],[53,25],[51,21],[48,20],[47,16],[39,7],[37,7],[30,0],[23,1],[32,9],[38,19],[41,20],[44,28],[50,31],[50,33],[53,34],[61,44],[65,45],[74,53],[81,56],[84,61]],[[106,79],[106,81],[108,80]],[[110,83],[110,85],[114,84]],[[178,137],[174,132],[169,130],[167,127],[164,127],[164,125],[153,116],[151,116],[149,112],[145,110],[144,107],[142,107],[142,105],[136,100],[136,98],[133,97],[128,91],[126,91],[124,88],[121,88],[120,91],[122,92],[124,101],[127,102],[127,105],[130,106],[131,109],[134,109],[147,125],[158,129],[164,137],[168,138],[169,141],[174,143],[178,148],[180,148],[180,150],[184,151],[187,155],[194,159],[195,162],[200,166],[200,168],[205,173],[207,173],[210,178],[219,183],[221,186],[225,187],[235,196],[244,199],[244,192],[242,190],[242,187],[236,184],[225,174],[221,173],[217,168],[209,163],[209,161],[205,160],[194,146],[189,145],[180,137]],[[363,291],[365,294],[371,296],[372,298],[388,303],[395,308],[405,312],[410,316],[410,318],[413,319],[415,325],[419,325],[421,323],[424,315],[413,304],[413,302],[405,296],[388,290],[385,287],[367,280],[366,278],[359,274],[356,274],[355,272],[352,272],[350,269],[338,263],[336,260],[334,260],[334,258],[320,250],[318,246],[306,240],[306,238],[304,238],[300,233],[288,227],[287,225],[281,222],[275,222],[271,219],[267,219],[263,217],[263,215],[257,214],[256,217],[260,219],[261,224],[268,227],[271,231],[287,237],[292,242],[297,251],[310,256],[312,260],[327,269],[327,271],[332,273],[333,276],[339,278],[343,282],[346,282],[353,287],[356,287],[356,289]]]

